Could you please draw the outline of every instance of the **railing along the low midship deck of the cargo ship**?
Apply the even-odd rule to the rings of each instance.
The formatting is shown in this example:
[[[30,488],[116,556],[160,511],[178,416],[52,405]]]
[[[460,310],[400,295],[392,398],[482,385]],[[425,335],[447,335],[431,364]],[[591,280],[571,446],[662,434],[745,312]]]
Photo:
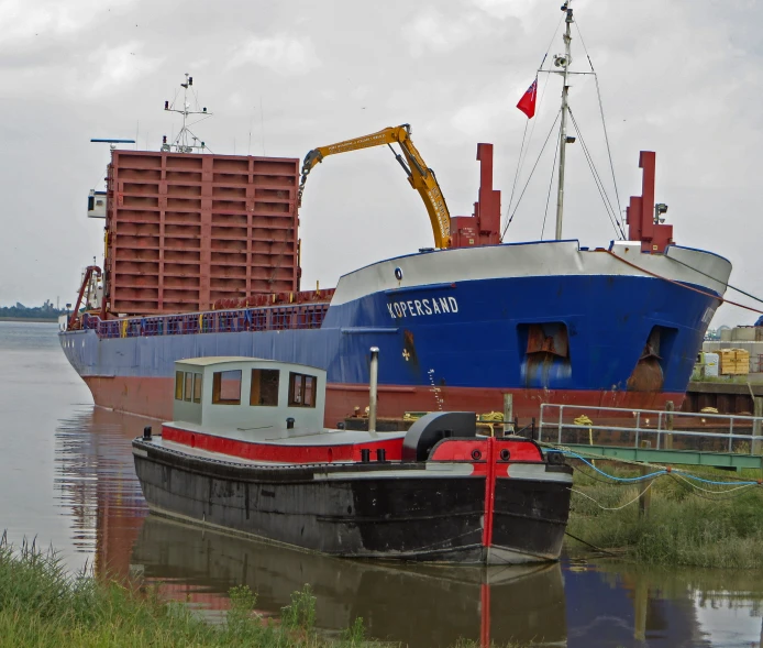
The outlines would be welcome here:
[[[296,304],[110,320],[90,315],[82,317],[81,328],[95,330],[99,338],[319,329],[328,310],[328,304]]]

